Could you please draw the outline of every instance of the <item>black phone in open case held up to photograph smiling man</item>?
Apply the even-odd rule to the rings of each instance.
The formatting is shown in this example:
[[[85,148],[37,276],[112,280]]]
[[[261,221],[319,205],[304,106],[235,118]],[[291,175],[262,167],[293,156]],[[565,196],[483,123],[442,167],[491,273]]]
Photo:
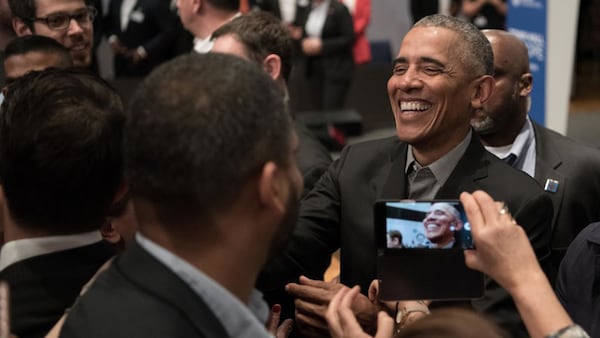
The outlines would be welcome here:
[[[465,264],[474,243],[460,201],[379,200],[373,212],[382,300],[483,296],[483,274]]]

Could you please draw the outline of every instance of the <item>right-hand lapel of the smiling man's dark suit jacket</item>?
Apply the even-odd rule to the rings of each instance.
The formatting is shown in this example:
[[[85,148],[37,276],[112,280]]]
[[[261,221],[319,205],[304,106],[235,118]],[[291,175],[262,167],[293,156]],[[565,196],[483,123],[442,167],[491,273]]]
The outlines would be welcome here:
[[[446,183],[438,191],[436,199],[456,199],[463,191],[477,190],[479,187],[477,181],[488,176],[488,164],[485,148],[481,145],[477,135],[472,133],[467,150]]]

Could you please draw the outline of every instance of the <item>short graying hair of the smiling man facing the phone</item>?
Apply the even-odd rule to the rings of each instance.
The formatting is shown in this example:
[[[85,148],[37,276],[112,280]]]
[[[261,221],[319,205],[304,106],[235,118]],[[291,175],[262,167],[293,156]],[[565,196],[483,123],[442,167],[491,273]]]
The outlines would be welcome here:
[[[459,35],[459,41],[463,41],[456,51],[465,69],[476,77],[494,74],[490,42],[473,24],[453,16],[434,14],[417,21],[413,27],[442,27],[454,31]]]

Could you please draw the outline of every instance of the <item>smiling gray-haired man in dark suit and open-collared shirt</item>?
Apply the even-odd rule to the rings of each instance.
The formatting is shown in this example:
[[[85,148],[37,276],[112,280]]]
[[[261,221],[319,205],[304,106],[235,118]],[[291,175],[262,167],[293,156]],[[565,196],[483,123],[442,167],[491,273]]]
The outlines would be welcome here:
[[[302,200],[293,240],[262,276],[264,288],[299,274],[320,278],[329,255],[341,248],[341,282],[366,292],[376,276],[373,204],[380,198],[456,199],[462,191],[487,191],[505,201],[545,264],[549,197],[530,177],[485,151],[471,130],[472,114],[492,92],[492,72],[490,44],[473,25],[441,15],[415,24],[387,86],[397,136],[342,151]],[[327,334],[323,311],[340,287],[307,278],[288,284],[299,326]],[[506,291],[488,279],[485,292],[470,305],[514,336],[526,335]],[[366,296],[357,297],[353,309],[365,327],[375,325],[378,308]]]

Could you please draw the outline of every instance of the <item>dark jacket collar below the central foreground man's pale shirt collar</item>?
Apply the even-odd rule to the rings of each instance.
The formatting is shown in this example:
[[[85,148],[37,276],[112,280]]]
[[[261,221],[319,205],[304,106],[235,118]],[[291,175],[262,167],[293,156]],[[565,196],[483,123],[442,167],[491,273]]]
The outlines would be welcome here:
[[[202,299],[139,244],[134,243],[127,249],[116,264],[121,273],[140,288],[178,308],[202,336],[227,337],[220,321]]]

